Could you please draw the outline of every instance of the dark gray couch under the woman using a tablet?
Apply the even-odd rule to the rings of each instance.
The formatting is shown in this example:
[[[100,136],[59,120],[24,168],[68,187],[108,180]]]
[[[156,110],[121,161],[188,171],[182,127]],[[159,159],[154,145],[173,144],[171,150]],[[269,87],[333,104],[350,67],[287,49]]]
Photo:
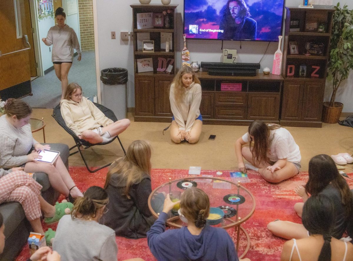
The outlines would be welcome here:
[[[60,157],[68,169],[68,156],[70,154],[68,146],[65,144],[49,144],[50,149],[60,151]],[[42,188],[42,197],[54,204],[59,197],[59,193],[50,186],[48,175],[43,172],[36,172],[36,181]],[[0,213],[4,217],[5,224],[5,248],[0,255],[0,261],[14,260],[23,246],[26,244],[31,226],[25,217],[22,206],[18,202],[3,203],[0,205]]]

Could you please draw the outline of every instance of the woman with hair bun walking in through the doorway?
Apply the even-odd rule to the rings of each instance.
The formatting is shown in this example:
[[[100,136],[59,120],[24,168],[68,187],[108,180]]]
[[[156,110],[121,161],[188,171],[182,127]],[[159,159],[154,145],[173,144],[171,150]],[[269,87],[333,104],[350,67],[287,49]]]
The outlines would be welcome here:
[[[47,46],[53,44],[52,62],[56,77],[61,81],[61,99],[64,99],[68,85],[67,75],[73,62],[73,49],[77,51],[78,61],[81,61],[81,50],[76,32],[65,24],[66,14],[62,7],[56,9],[55,19],[57,24],[49,29],[47,37],[42,38],[42,41]]]

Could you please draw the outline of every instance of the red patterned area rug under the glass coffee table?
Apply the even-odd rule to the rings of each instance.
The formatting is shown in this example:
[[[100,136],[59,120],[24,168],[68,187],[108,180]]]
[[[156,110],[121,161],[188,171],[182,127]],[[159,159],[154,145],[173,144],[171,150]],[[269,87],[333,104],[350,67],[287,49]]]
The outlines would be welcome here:
[[[107,169],[100,170],[96,173],[90,173],[84,167],[70,167],[70,174],[76,185],[85,191],[91,186],[103,186]],[[218,170],[202,170],[201,174],[216,175]],[[221,177],[229,179],[229,171],[222,171]],[[188,177],[188,170],[172,170],[172,169],[153,169],[151,174],[152,189],[168,182],[169,177],[172,180],[177,178]],[[283,181],[279,184],[271,184],[263,180],[263,178],[255,171],[248,171],[250,183],[242,185],[250,190],[255,196],[256,208],[253,215],[248,219],[243,227],[250,236],[250,249],[246,254],[251,260],[273,261],[280,260],[282,245],[284,239],[273,236],[266,228],[267,224],[275,219],[289,220],[300,223],[300,218],[295,214],[293,205],[300,202],[301,198],[295,194],[294,188],[299,184],[305,184],[307,181],[307,172],[300,172],[297,176]],[[219,177],[219,176],[217,176]],[[351,180],[348,181],[350,187],[353,186]],[[64,199],[63,196],[59,200]],[[47,226],[43,223],[44,231],[48,227],[53,230],[56,225]],[[228,229],[231,237],[236,239],[234,229]],[[141,257],[146,261],[156,260],[151,254],[147,239],[126,239],[124,237],[116,237],[118,244],[118,260],[124,260],[133,257]],[[245,249],[245,236],[240,238],[239,254]],[[29,258],[28,246],[24,246],[22,252],[17,257],[18,261],[25,261]]]

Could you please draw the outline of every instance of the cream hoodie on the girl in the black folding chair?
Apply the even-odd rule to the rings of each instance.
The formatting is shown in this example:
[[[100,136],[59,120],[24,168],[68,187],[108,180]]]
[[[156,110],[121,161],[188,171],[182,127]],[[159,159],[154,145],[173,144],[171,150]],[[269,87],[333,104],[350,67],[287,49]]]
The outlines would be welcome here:
[[[85,97],[82,97],[78,103],[66,99],[61,100],[60,111],[66,126],[76,135],[81,135],[84,130],[105,127],[113,123]]]

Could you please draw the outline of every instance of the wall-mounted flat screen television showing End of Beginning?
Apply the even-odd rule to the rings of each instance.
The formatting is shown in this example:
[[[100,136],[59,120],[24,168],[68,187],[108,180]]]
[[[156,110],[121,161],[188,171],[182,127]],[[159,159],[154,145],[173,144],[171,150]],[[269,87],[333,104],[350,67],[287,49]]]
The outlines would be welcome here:
[[[187,39],[277,42],[284,0],[184,0]]]

